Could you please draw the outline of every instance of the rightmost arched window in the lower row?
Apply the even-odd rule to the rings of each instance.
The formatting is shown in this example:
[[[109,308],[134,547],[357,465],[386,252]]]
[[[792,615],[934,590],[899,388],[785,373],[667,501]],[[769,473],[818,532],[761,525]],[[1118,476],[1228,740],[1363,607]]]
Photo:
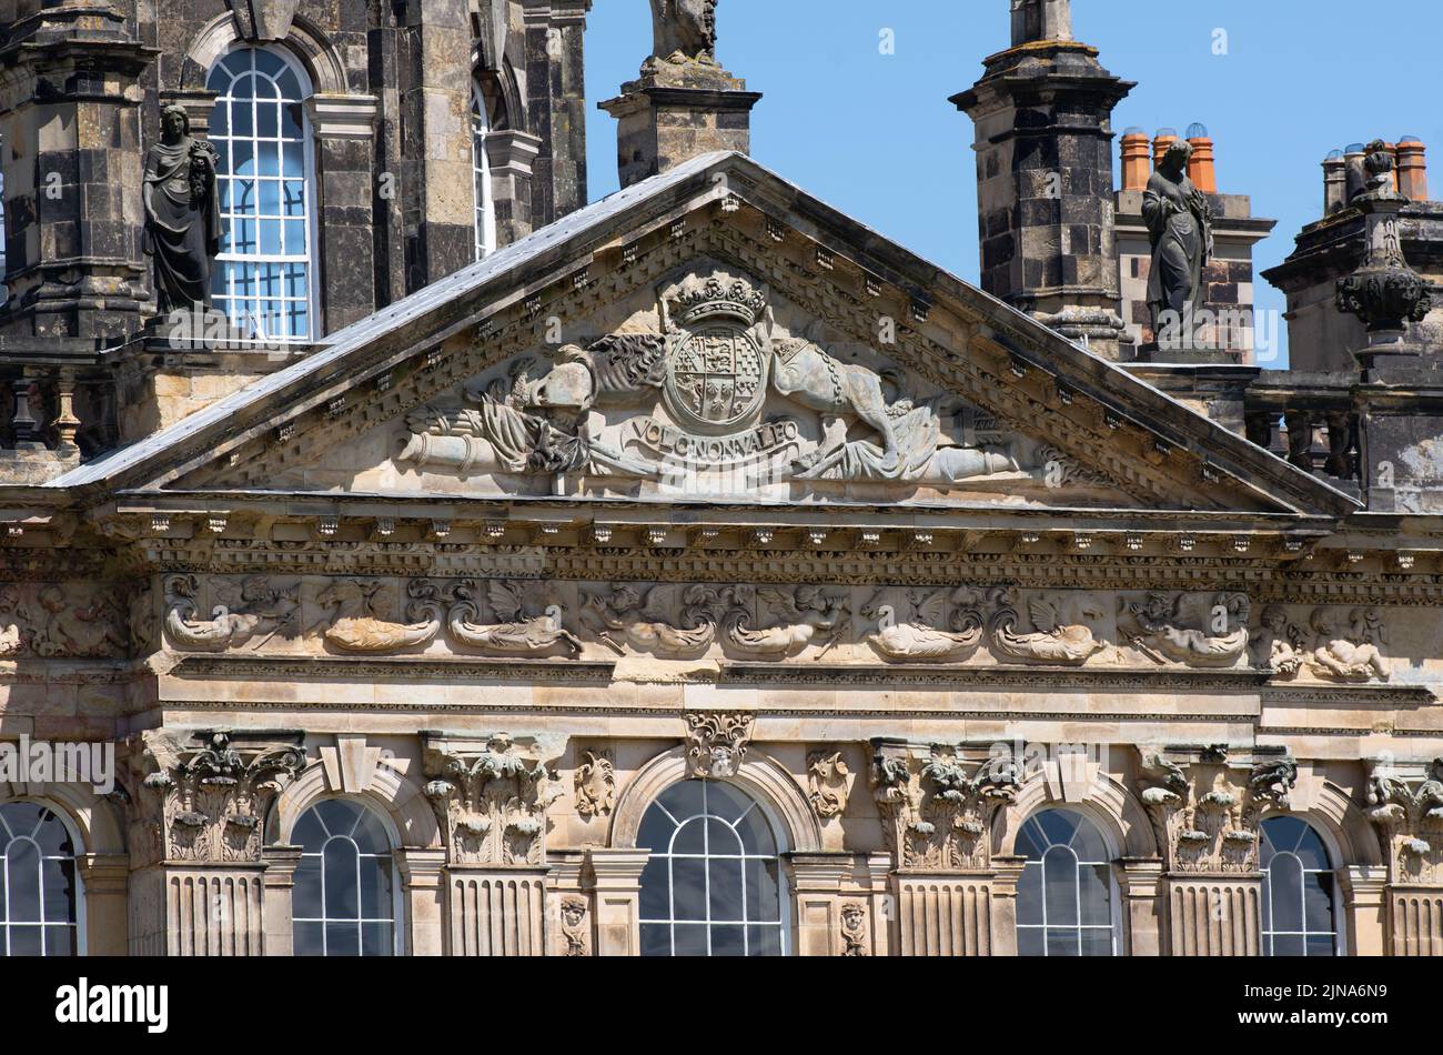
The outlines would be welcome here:
[[[1336,955],[1333,869],[1328,847],[1306,821],[1268,817],[1258,852],[1263,869],[1263,954]]]

